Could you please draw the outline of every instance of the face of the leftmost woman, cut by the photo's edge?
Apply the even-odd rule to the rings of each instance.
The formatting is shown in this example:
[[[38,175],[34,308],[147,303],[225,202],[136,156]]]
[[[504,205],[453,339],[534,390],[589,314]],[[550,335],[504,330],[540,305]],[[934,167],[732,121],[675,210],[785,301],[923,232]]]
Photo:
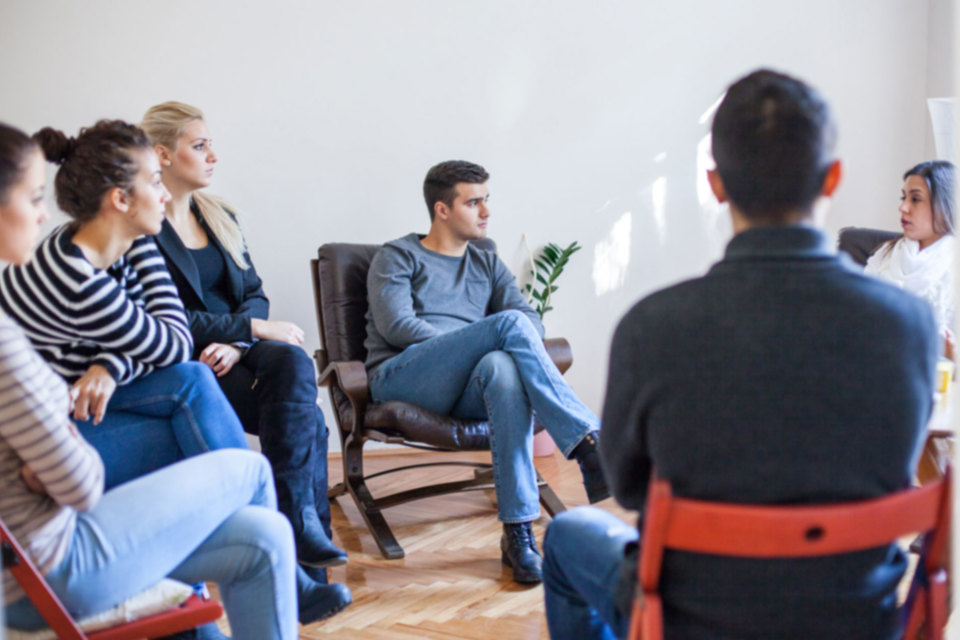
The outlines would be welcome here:
[[[0,260],[24,264],[33,255],[40,225],[47,220],[44,185],[43,155],[37,150],[0,203]]]

